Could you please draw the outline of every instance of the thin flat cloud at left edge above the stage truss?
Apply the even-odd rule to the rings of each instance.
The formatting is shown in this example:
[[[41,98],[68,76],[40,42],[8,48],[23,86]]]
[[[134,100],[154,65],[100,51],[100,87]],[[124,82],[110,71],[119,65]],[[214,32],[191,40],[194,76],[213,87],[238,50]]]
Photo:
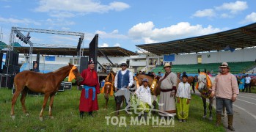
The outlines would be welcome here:
[[[28,25],[28,24],[34,24],[34,25],[41,25],[41,23],[37,22],[37,21],[33,21],[31,19],[28,19],[28,18],[23,18],[23,19],[15,19],[15,18],[1,18],[0,17],[0,22],[3,22],[3,23],[21,23],[21,24],[25,24],[25,25]]]

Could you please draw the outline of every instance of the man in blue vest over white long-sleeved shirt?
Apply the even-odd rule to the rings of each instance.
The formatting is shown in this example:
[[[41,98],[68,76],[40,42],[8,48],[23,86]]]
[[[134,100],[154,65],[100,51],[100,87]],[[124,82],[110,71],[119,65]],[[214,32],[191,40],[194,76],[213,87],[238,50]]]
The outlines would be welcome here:
[[[134,84],[133,73],[130,70],[126,69],[127,64],[122,63],[121,68],[122,68],[122,70],[117,72],[117,75],[114,78],[115,92],[117,92],[121,88],[130,89],[130,87]],[[122,103],[122,96],[116,96],[115,101],[116,101],[116,111],[117,111],[116,115],[118,115],[120,106]],[[128,102],[128,100],[126,102]]]

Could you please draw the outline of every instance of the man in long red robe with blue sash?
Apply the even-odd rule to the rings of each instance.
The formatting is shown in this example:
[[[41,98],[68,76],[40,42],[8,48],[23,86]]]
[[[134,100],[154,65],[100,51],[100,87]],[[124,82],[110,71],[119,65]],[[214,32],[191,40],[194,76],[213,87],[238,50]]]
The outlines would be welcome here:
[[[98,74],[94,70],[94,67],[95,62],[91,59],[88,68],[81,73],[81,76],[84,78],[84,81],[81,82],[81,85],[84,85],[84,87],[81,90],[79,104],[81,118],[84,117],[84,111],[88,112],[89,116],[92,117],[92,111],[98,110],[97,94],[100,93],[100,84],[98,82]]]

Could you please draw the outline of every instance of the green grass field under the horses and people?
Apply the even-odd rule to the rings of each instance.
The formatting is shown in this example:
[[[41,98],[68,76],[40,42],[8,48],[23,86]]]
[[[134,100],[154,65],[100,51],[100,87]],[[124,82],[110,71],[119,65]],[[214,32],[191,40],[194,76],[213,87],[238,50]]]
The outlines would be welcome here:
[[[39,120],[39,113],[43,103],[43,96],[26,97],[26,109],[30,116],[26,117],[21,109],[20,97],[15,105],[15,120],[10,118],[12,93],[10,89],[0,89],[0,131],[225,131],[223,127],[216,128],[215,110],[213,121],[202,119],[202,100],[197,95],[192,95],[189,108],[188,122],[178,122],[175,118],[174,127],[154,127],[152,125],[130,125],[130,116],[126,116],[127,127],[106,125],[105,116],[115,109],[114,97],[109,99],[109,109],[105,109],[103,95],[98,95],[99,110],[93,114],[95,117],[80,119],[78,105],[81,91],[76,87],[65,92],[58,92],[54,98],[54,119],[48,118],[48,106],[43,114],[43,122]],[[111,115],[114,116],[114,115]],[[157,116],[157,115],[154,115]]]

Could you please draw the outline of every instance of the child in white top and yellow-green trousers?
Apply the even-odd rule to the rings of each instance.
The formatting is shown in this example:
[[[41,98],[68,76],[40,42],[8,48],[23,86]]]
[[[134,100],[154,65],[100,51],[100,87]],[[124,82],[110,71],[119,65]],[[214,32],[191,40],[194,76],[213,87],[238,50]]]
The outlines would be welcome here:
[[[176,97],[178,120],[179,122],[186,122],[189,117],[189,102],[191,100],[190,84],[186,74],[182,76],[182,82],[178,86]]]

